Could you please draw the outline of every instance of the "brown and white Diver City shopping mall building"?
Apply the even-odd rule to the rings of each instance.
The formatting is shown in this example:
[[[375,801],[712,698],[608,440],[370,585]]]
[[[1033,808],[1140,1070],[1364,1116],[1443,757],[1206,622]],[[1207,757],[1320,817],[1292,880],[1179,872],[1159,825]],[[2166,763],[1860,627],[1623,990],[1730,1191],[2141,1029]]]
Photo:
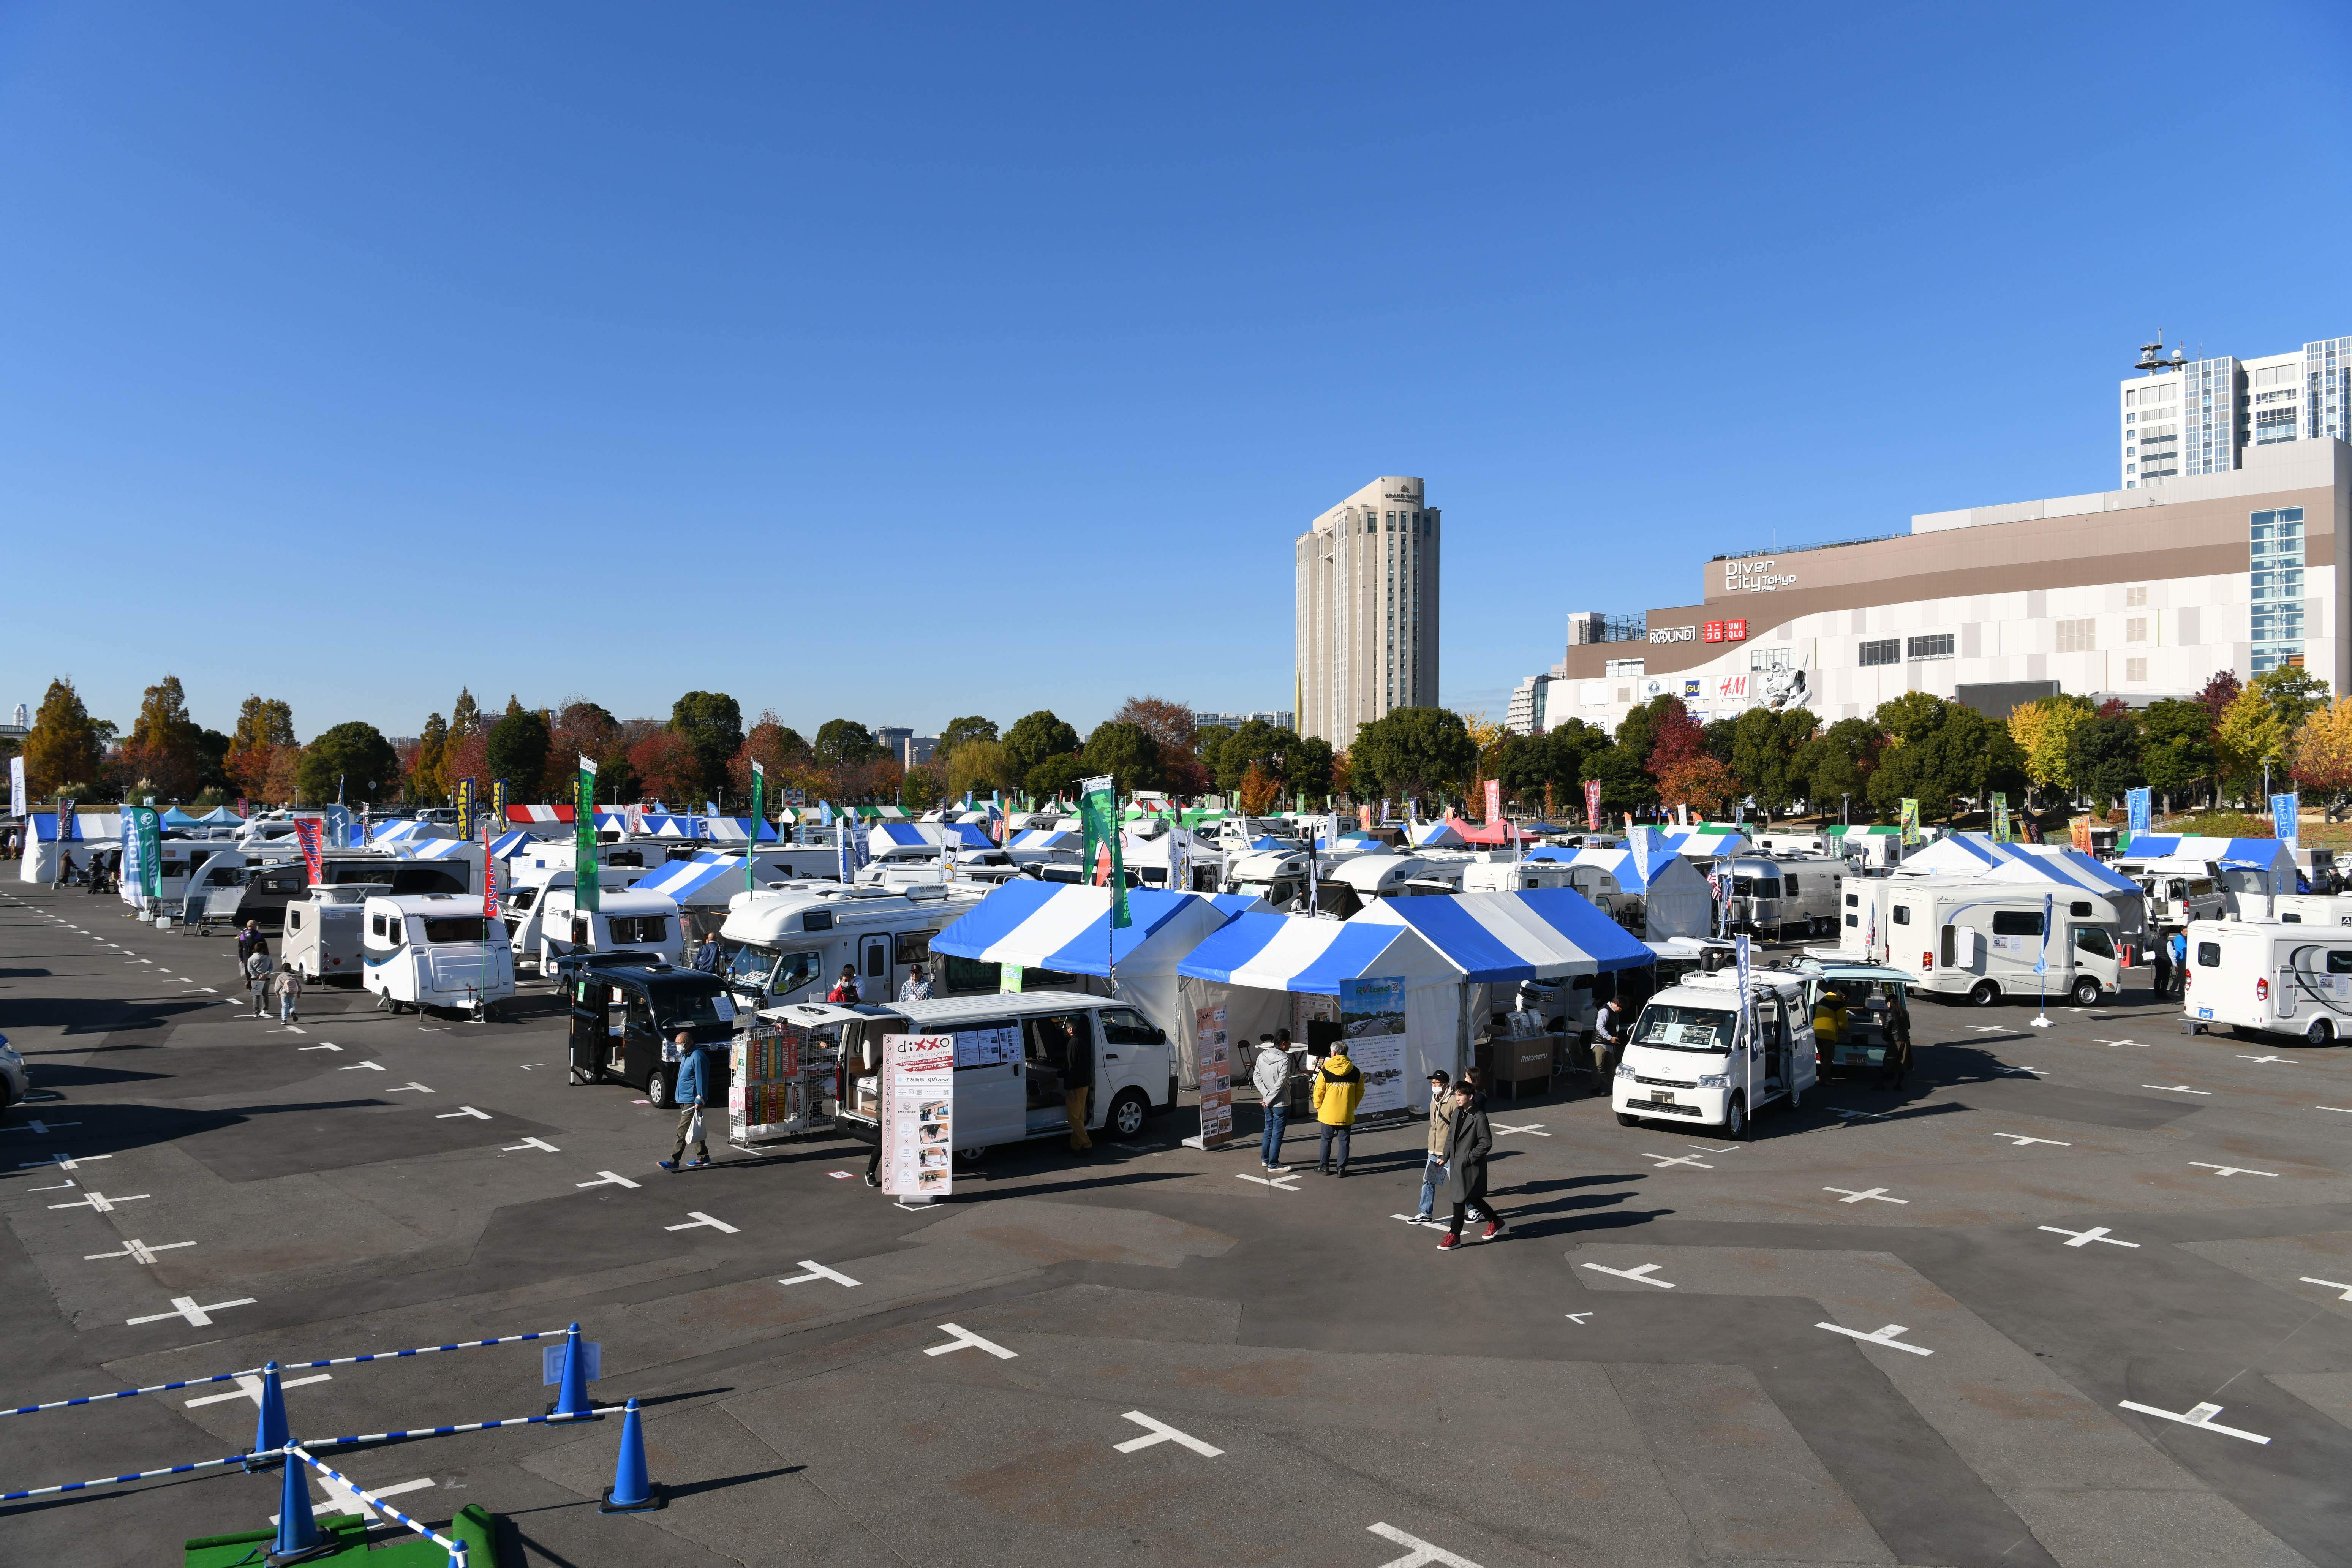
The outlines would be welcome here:
[[[2058,691],[2140,708],[2300,665],[2352,679],[2340,625],[2352,447],[2249,447],[2241,465],[2091,496],[1912,517],[1907,534],[1729,555],[1646,616],[1569,618],[1515,729],[1616,729],[1656,696],[1693,717],[1806,708],[1823,724],[1933,691],[2006,717]]]

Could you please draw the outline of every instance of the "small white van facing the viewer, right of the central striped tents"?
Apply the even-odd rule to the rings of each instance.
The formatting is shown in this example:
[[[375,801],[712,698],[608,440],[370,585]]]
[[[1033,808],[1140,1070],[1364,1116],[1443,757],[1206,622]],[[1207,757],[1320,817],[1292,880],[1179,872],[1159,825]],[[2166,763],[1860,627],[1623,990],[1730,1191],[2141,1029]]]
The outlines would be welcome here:
[[[1750,971],[1748,997],[1738,969],[1717,969],[1644,1001],[1609,1091],[1618,1126],[1672,1119],[1738,1140],[1766,1105],[1797,1110],[1816,1074],[1806,980]]]

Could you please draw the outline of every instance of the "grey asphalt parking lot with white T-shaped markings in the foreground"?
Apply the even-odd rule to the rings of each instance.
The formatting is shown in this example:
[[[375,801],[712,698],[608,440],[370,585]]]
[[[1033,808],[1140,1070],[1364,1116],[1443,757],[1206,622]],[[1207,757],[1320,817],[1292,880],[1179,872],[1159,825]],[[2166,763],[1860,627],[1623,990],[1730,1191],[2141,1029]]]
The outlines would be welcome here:
[[[2343,1046],[2187,1037],[2147,992],[2046,1030],[1922,1001],[1905,1088],[1823,1084],[1740,1145],[1498,1100],[1510,1229],[1439,1253],[1399,1218],[1418,1124],[1348,1180],[1294,1133],[1268,1187],[1178,1112],[906,1211],[842,1140],[654,1168],[675,1114],[567,1084],[543,990],[475,1025],[313,987],[287,1027],[233,969],[0,884],[35,1091],[0,1119],[0,1406],[579,1321],[663,1512],[597,1514],[614,1420],[339,1469],[560,1566],[2352,1566]],[[550,1396],[539,1345],[301,1375],[296,1436]],[[254,1408],[5,1415],[0,1493],[240,1453]],[[0,1559],[179,1561],[278,1488],[0,1505]]]

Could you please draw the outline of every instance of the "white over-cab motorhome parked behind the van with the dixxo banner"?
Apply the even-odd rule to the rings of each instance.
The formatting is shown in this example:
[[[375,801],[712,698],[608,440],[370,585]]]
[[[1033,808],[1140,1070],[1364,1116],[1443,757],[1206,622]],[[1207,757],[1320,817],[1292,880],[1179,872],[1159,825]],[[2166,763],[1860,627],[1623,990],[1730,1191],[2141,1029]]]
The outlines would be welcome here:
[[[844,889],[830,882],[736,893],[720,926],[720,966],[736,1004],[823,1001],[844,966],[861,1001],[891,1001],[931,938],[971,910],[985,886]],[[946,987],[943,987],[946,990]]]

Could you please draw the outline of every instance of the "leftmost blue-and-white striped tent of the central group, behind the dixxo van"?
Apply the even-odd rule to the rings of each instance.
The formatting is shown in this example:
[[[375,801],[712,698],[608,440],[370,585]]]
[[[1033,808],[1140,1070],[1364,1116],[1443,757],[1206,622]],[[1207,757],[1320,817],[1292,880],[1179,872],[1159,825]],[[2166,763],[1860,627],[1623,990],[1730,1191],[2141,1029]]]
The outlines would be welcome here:
[[[1176,966],[1202,940],[1251,910],[1268,910],[1263,898],[1237,893],[1169,893],[1131,889],[1127,912],[1134,924],[1110,926],[1110,891],[1068,882],[1007,882],[971,912],[931,938],[931,952],[976,964],[1018,964],[1068,976],[1110,980],[1117,973],[1120,999],[1176,1041],[1176,1060],[1188,1065],[1185,1081],[1197,1081],[1192,1063],[1192,1013],[1176,983]],[[1268,919],[1279,919],[1270,914]],[[1108,990],[1108,985],[1103,987]]]

